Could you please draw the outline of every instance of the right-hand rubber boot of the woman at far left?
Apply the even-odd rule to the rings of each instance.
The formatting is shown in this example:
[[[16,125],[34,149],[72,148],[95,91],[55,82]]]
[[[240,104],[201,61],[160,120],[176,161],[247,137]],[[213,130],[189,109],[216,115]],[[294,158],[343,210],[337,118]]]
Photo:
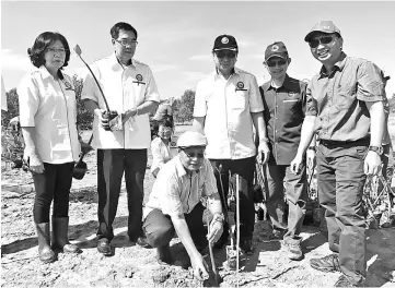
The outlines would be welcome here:
[[[65,253],[82,253],[82,250],[69,242],[69,217],[53,217],[53,249]]]

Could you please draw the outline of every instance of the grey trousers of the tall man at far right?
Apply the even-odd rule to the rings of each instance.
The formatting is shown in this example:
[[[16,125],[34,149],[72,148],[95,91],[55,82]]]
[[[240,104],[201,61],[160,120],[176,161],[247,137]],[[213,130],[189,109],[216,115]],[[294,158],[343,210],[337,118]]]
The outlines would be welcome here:
[[[356,283],[367,269],[362,194],[368,145],[369,140],[322,141],[316,156],[318,199],[326,209],[329,249],[339,254],[341,272]]]

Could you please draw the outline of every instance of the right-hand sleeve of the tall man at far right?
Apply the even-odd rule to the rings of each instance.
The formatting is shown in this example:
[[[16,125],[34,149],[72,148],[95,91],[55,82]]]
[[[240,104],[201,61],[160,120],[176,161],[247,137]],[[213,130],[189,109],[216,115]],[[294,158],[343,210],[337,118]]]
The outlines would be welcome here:
[[[357,98],[362,101],[382,101],[385,95],[380,69],[364,61],[358,68]]]

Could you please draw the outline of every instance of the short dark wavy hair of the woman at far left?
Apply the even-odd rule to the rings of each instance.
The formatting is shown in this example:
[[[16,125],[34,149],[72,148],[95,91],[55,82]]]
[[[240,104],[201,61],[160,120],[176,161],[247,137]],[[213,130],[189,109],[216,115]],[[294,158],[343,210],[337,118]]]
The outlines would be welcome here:
[[[27,49],[28,58],[36,68],[39,68],[40,65],[45,64],[45,58],[44,58],[45,51],[50,45],[53,45],[57,40],[61,41],[66,50],[66,59],[61,68],[67,67],[69,64],[70,47],[65,36],[58,32],[44,32],[38,35],[38,37],[33,44],[33,47]]]

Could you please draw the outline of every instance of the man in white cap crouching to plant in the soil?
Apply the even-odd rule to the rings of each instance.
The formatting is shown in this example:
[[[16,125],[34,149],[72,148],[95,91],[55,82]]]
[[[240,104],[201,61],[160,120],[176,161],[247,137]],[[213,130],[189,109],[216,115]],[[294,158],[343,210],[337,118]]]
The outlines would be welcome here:
[[[169,242],[175,230],[198,279],[208,277],[199,251],[207,247],[207,241],[213,244],[223,229],[216,178],[210,161],[205,158],[206,145],[206,136],[199,132],[187,131],[178,137],[178,155],[161,168],[143,213],[147,240],[156,248],[159,262],[173,263]],[[213,215],[209,235],[202,223],[201,197],[207,199]]]

